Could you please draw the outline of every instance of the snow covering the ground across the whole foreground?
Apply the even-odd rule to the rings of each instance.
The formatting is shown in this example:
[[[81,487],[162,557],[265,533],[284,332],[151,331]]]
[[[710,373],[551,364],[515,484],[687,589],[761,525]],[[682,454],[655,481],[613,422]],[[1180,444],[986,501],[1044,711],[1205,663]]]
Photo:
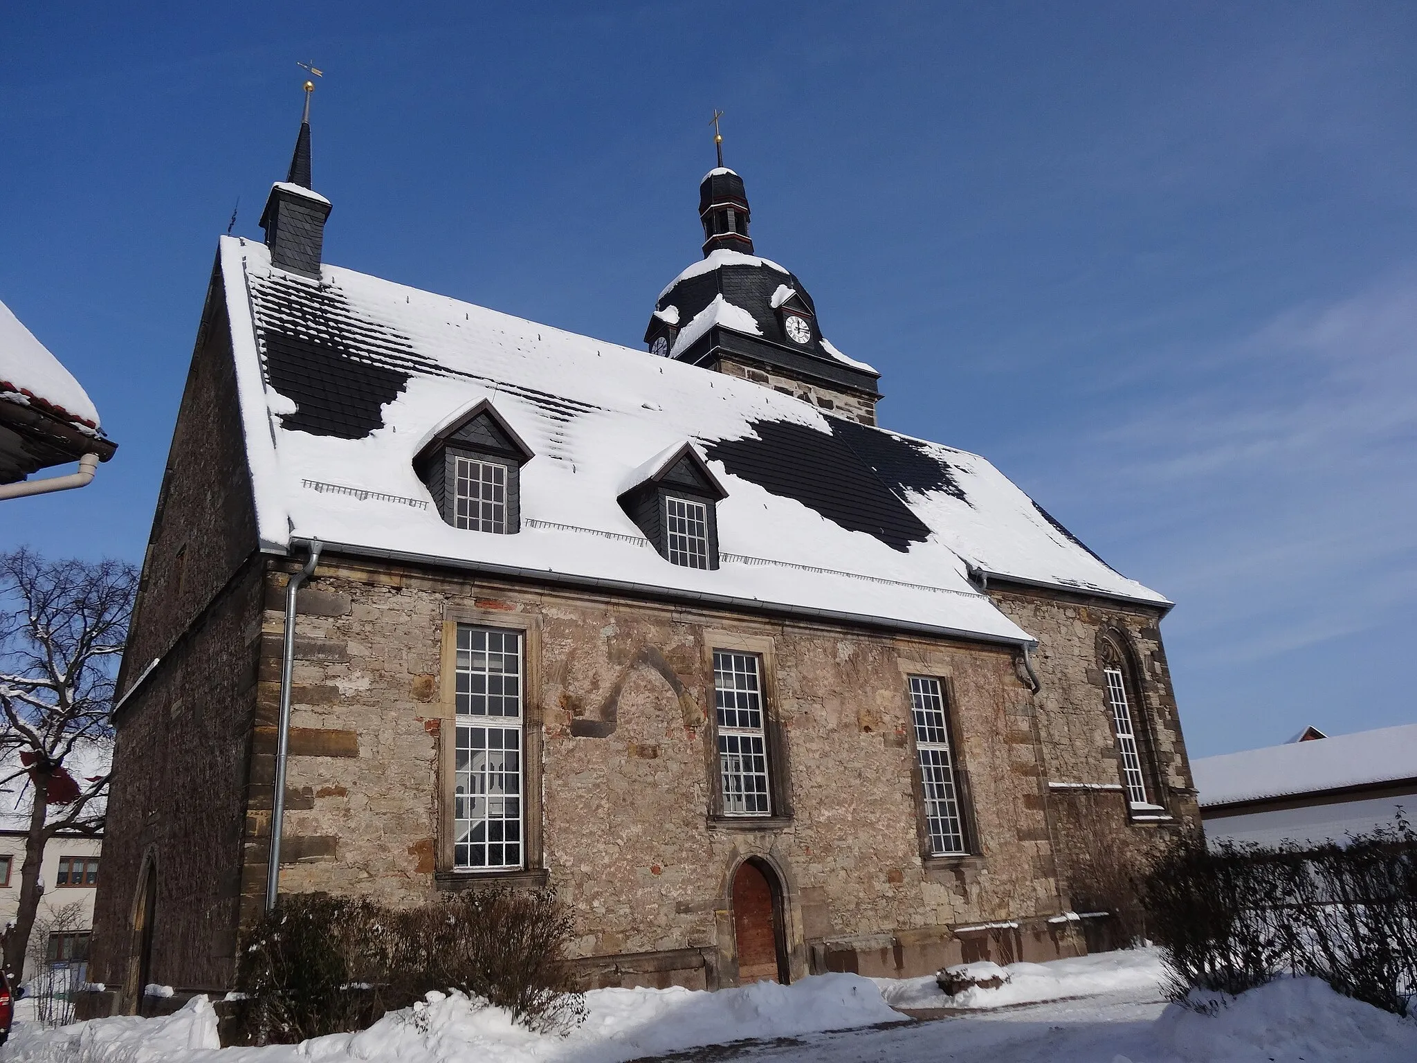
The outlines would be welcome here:
[[[921,979],[873,984],[856,975],[819,975],[792,986],[758,984],[717,994],[597,989],[587,994],[589,1018],[568,1037],[530,1033],[496,1008],[434,994],[429,1003],[385,1015],[361,1033],[299,1046],[218,1049],[215,1013],[197,998],[164,1019],[101,1019],[62,1030],[17,1026],[0,1063],[618,1063],[665,1053],[676,1053],[669,1059],[677,1063],[1417,1060],[1417,1020],[1340,996],[1314,978],[1285,978],[1231,999],[1202,996],[1197,1001],[1214,1012],[1202,1013],[1162,999],[1155,951],[1085,960],[1095,962],[1007,968],[1033,992],[1046,992],[1047,982],[1063,999],[1003,1006],[1006,996],[992,991],[1000,1006],[979,1002],[930,1022],[901,1020],[877,992],[884,986],[905,995]],[[1027,969],[1034,967],[1047,974]],[[1098,992],[1100,986],[1107,988]],[[730,1047],[693,1052],[728,1042]]]

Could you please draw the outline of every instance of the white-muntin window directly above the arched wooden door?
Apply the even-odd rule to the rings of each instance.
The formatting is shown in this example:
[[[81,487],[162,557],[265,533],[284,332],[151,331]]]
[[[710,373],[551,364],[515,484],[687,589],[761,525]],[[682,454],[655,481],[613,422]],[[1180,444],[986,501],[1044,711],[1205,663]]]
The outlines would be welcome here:
[[[768,797],[768,737],[764,726],[762,682],[755,653],[713,652],[717,707],[718,774],[723,814],[765,816]]]

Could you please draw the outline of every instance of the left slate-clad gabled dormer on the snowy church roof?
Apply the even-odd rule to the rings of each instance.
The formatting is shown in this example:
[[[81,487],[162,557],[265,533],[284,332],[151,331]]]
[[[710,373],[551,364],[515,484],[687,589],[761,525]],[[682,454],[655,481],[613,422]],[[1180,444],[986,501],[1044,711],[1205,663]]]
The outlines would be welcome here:
[[[521,527],[521,466],[531,458],[521,437],[482,401],[434,435],[414,471],[449,524],[507,536]]]

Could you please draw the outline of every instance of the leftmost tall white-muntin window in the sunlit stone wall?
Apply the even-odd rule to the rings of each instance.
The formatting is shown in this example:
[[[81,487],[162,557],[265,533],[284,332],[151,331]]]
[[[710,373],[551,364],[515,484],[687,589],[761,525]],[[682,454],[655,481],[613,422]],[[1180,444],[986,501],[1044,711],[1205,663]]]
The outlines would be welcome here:
[[[453,866],[524,863],[521,632],[458,625]]]

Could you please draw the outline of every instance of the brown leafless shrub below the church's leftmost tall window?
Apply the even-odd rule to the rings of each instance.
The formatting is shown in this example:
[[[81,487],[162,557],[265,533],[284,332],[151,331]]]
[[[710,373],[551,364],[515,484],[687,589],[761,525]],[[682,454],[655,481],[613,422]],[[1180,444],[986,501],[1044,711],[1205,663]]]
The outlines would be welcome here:
[[[565,960],[570,914],[555,892],[493,887],[414,909],[288,894],[244,937],[237,1040],[299,1042],[368,1028],[429,991],[506,1008],[533,1030],[585,1015]]]

